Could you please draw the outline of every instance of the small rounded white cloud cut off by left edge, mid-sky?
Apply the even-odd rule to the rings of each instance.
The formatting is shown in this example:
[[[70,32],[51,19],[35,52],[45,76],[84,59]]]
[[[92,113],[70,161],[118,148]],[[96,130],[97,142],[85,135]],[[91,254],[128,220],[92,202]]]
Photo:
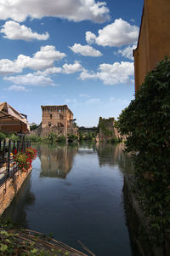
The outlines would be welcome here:
[[[8,75],[12,73],[20,73],[22,68],[19,67],[15,61],[8,59],[0,60],[0,75]]]

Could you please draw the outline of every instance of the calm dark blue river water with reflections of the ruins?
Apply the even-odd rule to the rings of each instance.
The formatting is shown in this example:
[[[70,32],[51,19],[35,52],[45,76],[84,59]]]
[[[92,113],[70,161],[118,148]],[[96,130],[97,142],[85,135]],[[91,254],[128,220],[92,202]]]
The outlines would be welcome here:
[[[96,255],[139,255],[127,228],[123,173],[132,162],[122,144],[33,147],[31,176],[3,217]]]

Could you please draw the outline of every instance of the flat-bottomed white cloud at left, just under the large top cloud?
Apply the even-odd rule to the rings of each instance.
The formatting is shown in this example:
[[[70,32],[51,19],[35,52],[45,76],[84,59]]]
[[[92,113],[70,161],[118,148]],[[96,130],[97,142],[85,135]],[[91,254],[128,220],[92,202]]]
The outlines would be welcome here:
[[[32,32],[30,27],[20,25],[18,22],[15,22],[13,20],[5,22],[5,24],[2,27],[3,28],[1,29],[0,32],[4,33],[3,38],[26,41],[31,41],[33,39],[47,40],[49,38],[48,32],[44,34]]]

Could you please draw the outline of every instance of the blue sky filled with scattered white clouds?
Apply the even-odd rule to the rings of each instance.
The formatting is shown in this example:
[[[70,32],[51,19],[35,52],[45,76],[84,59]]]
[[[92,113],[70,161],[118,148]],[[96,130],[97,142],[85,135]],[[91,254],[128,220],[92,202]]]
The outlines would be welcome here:
[[[79,126],[117,119],[134,96],[143,0],[0,0],[0,102],[30,123],[68,105]]]

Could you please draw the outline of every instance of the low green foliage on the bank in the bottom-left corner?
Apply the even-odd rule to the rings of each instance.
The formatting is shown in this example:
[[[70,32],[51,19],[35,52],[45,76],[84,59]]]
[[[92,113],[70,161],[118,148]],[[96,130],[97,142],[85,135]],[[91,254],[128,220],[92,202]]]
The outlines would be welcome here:
[[[44,246],[51,238],[42,234],[28,236],[25,230],[9,229],[0,223],[0,255],[66,256],[70,253],[56,247]]]

